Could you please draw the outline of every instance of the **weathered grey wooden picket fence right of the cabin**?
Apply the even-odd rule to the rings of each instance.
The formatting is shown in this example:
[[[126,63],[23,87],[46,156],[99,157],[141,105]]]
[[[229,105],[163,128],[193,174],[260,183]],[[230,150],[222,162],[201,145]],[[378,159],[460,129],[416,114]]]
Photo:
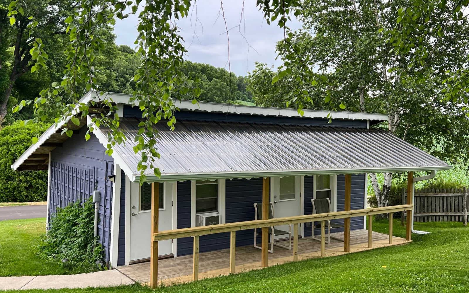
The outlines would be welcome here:
[[[415,222],[463,222],[468,221],[467,188],[416,189],[414,193]],[[402,188],[402,203],[407,201],[407,192]],[[404,220],[404,213],[402,213]]]

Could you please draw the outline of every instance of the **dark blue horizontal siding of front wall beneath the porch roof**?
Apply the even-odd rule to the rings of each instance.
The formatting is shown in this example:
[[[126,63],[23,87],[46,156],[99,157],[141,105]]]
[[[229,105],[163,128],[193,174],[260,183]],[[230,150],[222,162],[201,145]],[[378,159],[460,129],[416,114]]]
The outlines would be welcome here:
[[[351,208],[363,209],[364,174],[352,175]],[[178,182],[177,201],[177,228],[190,227],[190,181]],[[304,214],[312,214],[311,199],[313,198],[313,176],[304,177]],[[262,178],[226,180],[226,223],[253,220],[255,217],[254,203],[262,202]],[[345,177],[337,176],[337,210],[344,210]],[[343,223],[342,220],[334,220]],[[363,229],[363,217],[351,219],[350,229]],[[332,229],[332,232],[341,232],[343,228]],[[319,233],[316,230],[315,233]],[[252,245],[254,243],[254,230],[236,232],[236,246]],[[305,223],[304,236],[311,236],[311,225]],[[219,233],[201,236],[199,249],[201,252],[229,248],[229,233]],[[193,239],[182,238],[177,240],[177,255],[192,254]]]

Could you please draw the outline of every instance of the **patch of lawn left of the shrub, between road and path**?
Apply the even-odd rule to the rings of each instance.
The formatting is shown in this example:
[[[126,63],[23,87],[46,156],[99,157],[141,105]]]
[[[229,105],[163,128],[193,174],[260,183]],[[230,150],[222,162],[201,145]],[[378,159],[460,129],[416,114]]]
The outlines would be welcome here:
[[[44,233],[45,218],[0,221],[0,276],[72,273],[61,264],[45,261],[36,255],[34,246]]]

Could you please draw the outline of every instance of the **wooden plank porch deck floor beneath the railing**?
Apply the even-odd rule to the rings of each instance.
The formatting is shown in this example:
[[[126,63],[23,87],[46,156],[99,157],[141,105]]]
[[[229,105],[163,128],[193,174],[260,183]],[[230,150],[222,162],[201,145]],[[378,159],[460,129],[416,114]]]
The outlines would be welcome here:
[[[343,238],[343,232],[332,233],[331,236]],[[389,244],[389,235],[373,232],[373,247],[368,248],[368,231],[350,231],[350,253],[373,248],[400,245],[411,242],[400,237],[393,237],[393,244]],[[287,240],[285,240],[286,242]],[[293,240],[292,240],[293,241]],[[270,246],[269,246],[270,247]],[[343,255],[343,242],[331,239],[326,244],[325,256]],[[321,257],[321,243],[310,238],[298,239],[298,260]],[[274,247],[274,253],[269,253],[269,266],[293,261],[293,250]],[[228,275],[230,272],[230,250],[222,249],[199,254],[199,278],[212,278]],[[261,269],[261,250],[251,246],[236,248],[236,272]],[[150,263],[136,263],[117,267],[117,270],[141,284],[150,282]],[[159,283],[174,284],[192,281],[192,255],[158,261]]]

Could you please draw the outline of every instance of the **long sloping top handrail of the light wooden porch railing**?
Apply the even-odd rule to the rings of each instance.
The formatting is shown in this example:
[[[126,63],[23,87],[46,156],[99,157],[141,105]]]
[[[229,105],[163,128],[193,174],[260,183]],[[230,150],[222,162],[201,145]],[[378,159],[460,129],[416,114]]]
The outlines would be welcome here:
[[[284,218],[272,218],[268,220],[252,220],[244,222],[234,222],[228,224],[219,224],[219,225],[209,225],[209,226],[199,226],[199,227],[190,227],[182,228],[176,230],[166,230],[160,231],[153,234],[153,241],[177,239],[190,236],[201,236],[207,234],[216,234],[224,233],[231,231],[239,231],[253,228],[263,228],[277,225],[288,225],[288,224],[299,224],[312,221],[324,221],[332,219],[341,219],[341,218],[352,218],[360,216],[370,216],[378,215],[385,213],[394,213],[404,210],[413,210],[413,204],[401,204],[394,205],[390,207],[380,207],[380,208],[371,208],[371,209],[362,209],[362,210],[350,210],[350,211],[336,211],[330,213],[322,214],[312,214],[312,215],[302,215],[302,216],[293,216],[293,217],[284,217]]]

